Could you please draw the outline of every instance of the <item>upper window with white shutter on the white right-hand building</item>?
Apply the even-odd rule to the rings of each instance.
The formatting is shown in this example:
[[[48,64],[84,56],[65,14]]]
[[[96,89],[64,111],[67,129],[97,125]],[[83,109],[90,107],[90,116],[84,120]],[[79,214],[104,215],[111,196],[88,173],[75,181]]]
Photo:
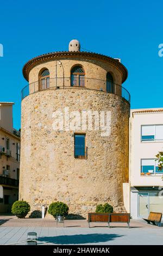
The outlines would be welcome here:
[[[142,125],[141,141],[163,141],[163,125]]]

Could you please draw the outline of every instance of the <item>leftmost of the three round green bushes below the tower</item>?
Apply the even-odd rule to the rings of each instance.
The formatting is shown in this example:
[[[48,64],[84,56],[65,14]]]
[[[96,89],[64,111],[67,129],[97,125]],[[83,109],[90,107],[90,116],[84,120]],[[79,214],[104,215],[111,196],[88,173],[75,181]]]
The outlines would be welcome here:
[[[23,215],[25,217],[29,211],[30,205],[26,201],[16,201],[14,204],[12,204],[12,214]]]

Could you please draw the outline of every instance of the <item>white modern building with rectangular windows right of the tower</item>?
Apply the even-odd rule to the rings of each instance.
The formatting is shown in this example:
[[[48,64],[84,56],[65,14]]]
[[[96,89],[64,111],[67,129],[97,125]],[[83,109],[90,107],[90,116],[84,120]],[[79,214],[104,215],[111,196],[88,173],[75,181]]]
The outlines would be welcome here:
[[[163,108],[131,109],[130,115],[130,214],[148,217],[163,214],[163,171],[156,154],[163,151]]]

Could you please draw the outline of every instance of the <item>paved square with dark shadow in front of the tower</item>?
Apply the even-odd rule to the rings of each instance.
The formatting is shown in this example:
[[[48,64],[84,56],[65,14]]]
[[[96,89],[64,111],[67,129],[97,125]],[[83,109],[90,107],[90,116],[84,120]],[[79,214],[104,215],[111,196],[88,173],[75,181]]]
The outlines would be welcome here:
[[[91,223],[86,220],[65,221],[65,228],[56,228],[53,219],[17,219],[12,216],[0,216],[0,244],[7,245],[24,241],[27,233],[35,231],[39,245],[163,245],[163,227],[131,220],[131,228],[126,223]],[[96,225],[96,227],[95,227]],[[97,227],[98,226],[98,227]],[[26,245],[26,242],[18,243]]]

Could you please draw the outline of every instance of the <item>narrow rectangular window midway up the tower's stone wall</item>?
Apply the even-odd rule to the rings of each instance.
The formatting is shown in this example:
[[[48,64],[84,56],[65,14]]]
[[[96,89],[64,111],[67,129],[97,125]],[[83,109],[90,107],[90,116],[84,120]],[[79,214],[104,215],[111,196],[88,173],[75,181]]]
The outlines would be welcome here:
[[[85,134],[74,135],[74,157],[79,159],[86,158]]]

